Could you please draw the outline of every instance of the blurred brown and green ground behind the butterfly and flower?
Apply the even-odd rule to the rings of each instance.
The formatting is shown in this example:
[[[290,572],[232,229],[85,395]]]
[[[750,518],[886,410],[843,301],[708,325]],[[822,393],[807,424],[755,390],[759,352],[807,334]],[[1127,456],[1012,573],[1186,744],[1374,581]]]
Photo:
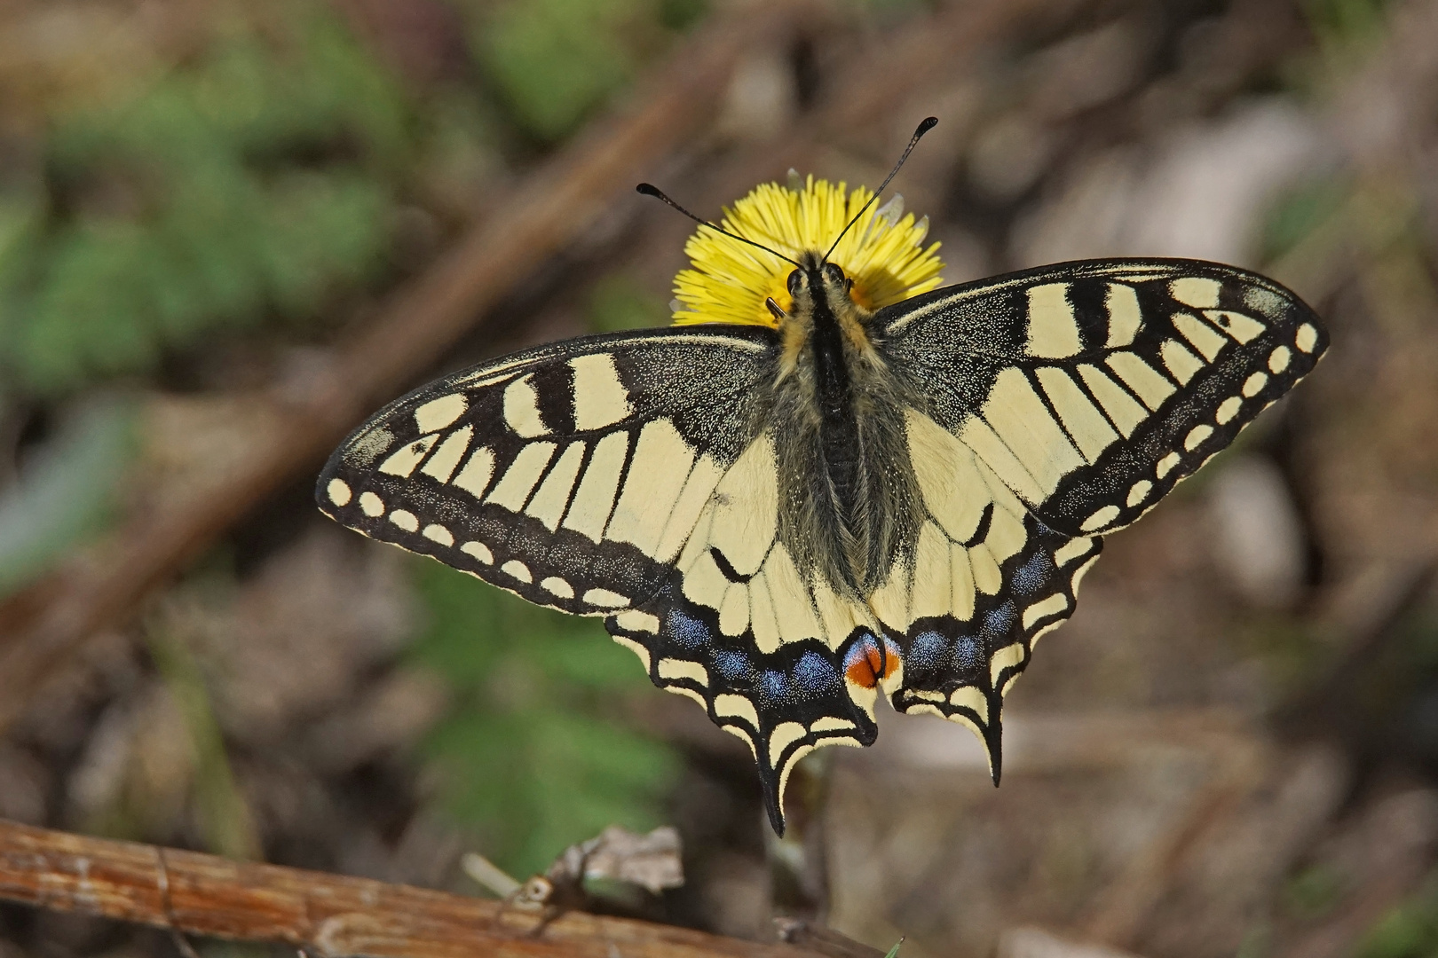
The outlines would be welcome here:
[[[948,282],[1222,260],[1333,346],[1109,540],[1002,789],[883,712],[777,842],[597,620],[336,527],[313,475],[420,382],[666,323],[690,224],[634,182],[876,185],[930,113],[896,188]],[[3,0],[0,817],[476,895],[466,852],[672,823],[687,883],[605,908],[1438,954],[1435,174],[1438,0]],[[173,954],[0,908],[4,958]]]

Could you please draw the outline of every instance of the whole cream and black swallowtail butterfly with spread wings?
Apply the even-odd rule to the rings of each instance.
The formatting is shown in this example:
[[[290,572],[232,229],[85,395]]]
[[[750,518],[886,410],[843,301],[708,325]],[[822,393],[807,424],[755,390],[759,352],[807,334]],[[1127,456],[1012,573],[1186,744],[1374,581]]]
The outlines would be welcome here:
[[[603,618],[749,747],[779,834],[794,763],[871,744],[880,692],[968,725],[997,784],[1004,695],[1103,537],[1327,348],[1297,296],[1217,263],[1058,263],[869,309],[837,240],[787,256],[705,225],[784,261],[784,302],[754,293],[772,325],[585,336],[456,372],[355,429],[316,497],[367,536]]]

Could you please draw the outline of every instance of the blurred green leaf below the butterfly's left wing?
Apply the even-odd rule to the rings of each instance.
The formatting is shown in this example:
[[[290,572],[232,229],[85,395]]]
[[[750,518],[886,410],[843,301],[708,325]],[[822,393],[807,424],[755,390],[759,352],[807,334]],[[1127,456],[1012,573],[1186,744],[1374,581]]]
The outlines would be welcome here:
[[[615,715],[630,691],[657,694],[598,619],[532,606],[437,562],[414,582],[430,622],[411,664],[453,688],[424,754],[440,806],[510,875],[542,872],[608,824],[660,824],[679,760]]]

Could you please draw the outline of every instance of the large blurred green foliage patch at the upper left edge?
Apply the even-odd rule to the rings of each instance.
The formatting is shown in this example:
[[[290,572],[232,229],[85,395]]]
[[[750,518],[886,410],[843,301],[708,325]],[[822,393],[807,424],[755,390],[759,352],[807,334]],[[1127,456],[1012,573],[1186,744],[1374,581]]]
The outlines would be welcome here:
[[[416,125],[326,7],[236,30],[128,103],[55,118],[45,187],[0,204],[0,356],[23,391],[315,320],[384,263]]]

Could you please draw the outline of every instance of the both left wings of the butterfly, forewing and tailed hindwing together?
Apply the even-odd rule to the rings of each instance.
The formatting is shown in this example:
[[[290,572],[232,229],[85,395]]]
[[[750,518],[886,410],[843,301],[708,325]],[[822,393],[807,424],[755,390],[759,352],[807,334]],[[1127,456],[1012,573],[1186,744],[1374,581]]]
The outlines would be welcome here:
[[[656,685],[749,744],[782,832],[792,764],[817,744],[874,740],[876,682],[854,687],[856,702],[843,669],[880,654],[778,543],[774,438],[751,435],[749,411],[775,342],[755,326],[690,326],[454,373],[358,428],[316,497],[374,539],[605,616]]]

